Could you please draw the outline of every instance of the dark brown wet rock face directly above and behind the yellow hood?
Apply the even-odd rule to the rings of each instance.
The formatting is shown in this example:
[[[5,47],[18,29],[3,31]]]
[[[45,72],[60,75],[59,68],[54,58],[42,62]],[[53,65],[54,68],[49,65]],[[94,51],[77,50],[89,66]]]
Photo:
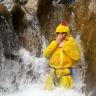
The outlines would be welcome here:
[[[57,4],[53,6],[40,2],[37,10],[37,18],[43,30],[45,38],[50,42],[55,36],[56,27],[63,21],[70,22],[71,11],[69,5]]]

